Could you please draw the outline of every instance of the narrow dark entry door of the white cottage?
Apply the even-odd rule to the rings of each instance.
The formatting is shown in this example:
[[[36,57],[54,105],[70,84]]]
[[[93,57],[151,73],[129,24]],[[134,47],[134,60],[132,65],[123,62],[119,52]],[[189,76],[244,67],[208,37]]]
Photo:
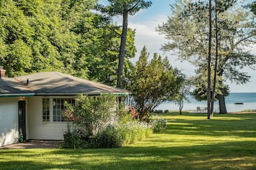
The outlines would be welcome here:
[[[26,102],[19,101],[19,141],[26,140]]]

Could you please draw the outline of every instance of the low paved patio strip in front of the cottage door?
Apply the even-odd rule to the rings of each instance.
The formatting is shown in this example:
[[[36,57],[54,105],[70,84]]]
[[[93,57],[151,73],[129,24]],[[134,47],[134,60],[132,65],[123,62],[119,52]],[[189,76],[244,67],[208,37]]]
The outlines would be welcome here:
[[[61,141],[28,140],[11,145],[0,146],[0,149],[17,148],[60,148]]]

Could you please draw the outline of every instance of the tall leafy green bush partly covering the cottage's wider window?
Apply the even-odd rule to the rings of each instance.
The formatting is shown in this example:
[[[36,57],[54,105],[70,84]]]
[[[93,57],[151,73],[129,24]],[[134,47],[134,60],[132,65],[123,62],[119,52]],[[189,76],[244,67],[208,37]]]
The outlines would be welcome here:
[[[99,98],[78,95],[74,108],[68,105],[68,109],[73,110],[71,116],[73,123],[78,128],[84,129],[86,138],[92,138],[117,121],[115,102],[114,95],[101,95]]]

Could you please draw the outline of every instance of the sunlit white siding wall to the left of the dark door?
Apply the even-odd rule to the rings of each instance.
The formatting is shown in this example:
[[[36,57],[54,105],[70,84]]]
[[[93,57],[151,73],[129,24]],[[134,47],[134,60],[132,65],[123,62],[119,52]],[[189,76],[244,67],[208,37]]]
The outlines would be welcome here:
[[[0,98],[0,146],[18,142],[17,98]]]

